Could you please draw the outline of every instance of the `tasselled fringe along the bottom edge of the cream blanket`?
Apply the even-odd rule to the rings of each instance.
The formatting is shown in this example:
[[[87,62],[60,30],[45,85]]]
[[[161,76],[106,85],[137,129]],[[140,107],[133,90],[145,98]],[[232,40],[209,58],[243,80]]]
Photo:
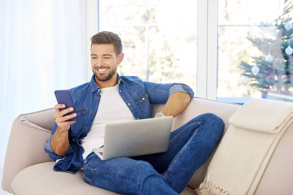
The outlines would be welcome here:
[[[215,184],[204,181],[200,184],[199,188],[194,190],[198,195],[232,195],[228,191],[222,189]]]

